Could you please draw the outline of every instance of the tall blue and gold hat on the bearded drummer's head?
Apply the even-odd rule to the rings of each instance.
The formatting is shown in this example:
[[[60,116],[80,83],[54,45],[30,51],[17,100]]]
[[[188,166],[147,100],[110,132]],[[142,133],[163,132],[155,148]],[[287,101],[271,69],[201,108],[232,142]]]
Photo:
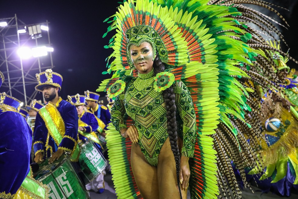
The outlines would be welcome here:
[[[46,69],[45,72],[35,74],[38,85],[35,89],[42,92],[44,86],[55,86],[61,90],[63,78],[60,74],[55,73],[52,69]]]

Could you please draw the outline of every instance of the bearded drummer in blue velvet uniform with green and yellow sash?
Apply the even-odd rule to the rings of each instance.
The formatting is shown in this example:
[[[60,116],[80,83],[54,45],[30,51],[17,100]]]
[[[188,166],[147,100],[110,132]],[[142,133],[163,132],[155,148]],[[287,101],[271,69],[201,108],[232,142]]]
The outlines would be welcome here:
[[[78,161],[80,150],[77,146],[78,113],[71,103],[59,96],[62,76],[46,69],[36,74],[38,85],[35,89],[42,92],[48,102],[38,110],[33,132],[36,163],[49,158],[48,163],[58,160],[63,153],[70,154],[71,161]]]

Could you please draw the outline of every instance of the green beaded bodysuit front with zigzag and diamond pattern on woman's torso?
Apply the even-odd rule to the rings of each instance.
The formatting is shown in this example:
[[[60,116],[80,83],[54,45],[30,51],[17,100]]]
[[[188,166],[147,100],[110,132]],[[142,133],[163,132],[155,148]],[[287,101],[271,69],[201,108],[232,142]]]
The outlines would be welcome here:
[[[168,134],[166,105],[162,93],[154,90],[153,82],[153,70],[151,77],[132,79],[127,86],[124,107],[138,130],[142,153],[151,165],[156,166]]]

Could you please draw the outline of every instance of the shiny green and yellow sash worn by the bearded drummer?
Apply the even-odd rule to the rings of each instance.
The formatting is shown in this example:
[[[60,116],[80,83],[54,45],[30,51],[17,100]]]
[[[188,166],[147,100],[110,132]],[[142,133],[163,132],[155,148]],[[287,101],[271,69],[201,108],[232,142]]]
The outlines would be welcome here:
[[[55,105],[48,103],[46,106],[42,107],[39,112],[42,119],[45,121],[45,126],[48,129],[48,133],[51,134],[51,137],[53,137],[55,143],[57,146],[59,146],[59,143],[61,143],[65,134],[64,121],[59,111]],[[80,155],[80,149],[77,145],[77,142],[75,142],[74,148],[75,150],[72,150],[71,152],[71,161],[78,160]]]

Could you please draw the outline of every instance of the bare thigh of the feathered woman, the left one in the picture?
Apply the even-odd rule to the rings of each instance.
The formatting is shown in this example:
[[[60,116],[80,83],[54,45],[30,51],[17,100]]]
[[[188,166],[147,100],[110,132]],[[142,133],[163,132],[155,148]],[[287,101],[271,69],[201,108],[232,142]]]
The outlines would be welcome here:
[[[144,199],[159,199],[157,169],[147,162],[138,144],[131,146],[131,168]]]

